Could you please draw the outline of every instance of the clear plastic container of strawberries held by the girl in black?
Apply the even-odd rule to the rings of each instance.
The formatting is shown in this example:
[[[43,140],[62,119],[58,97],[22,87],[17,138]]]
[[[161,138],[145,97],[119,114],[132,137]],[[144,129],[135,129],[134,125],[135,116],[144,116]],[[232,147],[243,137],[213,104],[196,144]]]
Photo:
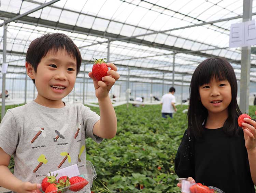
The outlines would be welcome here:
[[[197,188],[200,186],[196,182],[188,180],[187,178],[176,178],[176,180],[179,180],[179,183],[181,184],[180,191],[182,193],[198,193],[199,192],[199,189]],[[208,186],[208,188],[209,189],[205,188],[204,193],[225,193],[216,187]]]

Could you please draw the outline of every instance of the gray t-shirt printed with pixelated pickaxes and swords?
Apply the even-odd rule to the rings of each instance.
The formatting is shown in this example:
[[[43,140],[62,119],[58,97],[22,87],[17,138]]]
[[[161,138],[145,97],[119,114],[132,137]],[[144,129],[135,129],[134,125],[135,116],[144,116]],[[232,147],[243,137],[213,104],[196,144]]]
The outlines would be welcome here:
[[[14,156],[18,179],[38,183],[50,171],[86,161],[85,137],[103,140],[93,134],[98,120],[83,104],[49,108],[32,101],[7,110],[0,124],[0,147]]]

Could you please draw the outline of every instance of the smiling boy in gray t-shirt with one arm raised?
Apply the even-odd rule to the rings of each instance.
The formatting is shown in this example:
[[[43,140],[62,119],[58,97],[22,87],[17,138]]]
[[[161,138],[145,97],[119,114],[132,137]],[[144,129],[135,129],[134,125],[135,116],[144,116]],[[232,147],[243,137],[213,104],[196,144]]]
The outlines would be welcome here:
[[[81,54],[73,41],[61,33],[46,34],[31,42],[26,56],[28,76],[37,88],[37,98],[9,109],[0,124],[0,186],[14,192],[33,192],[41,187],[49,171],[85,161],[85,136],[100,143],[113,138],[117,119],[109,91],[120,77],[114,64],[108,76],[97,81],[92,72],[99,117],[83,104],[65,104],[81,65]],[[63,153],[70,159],[63,162]],[[14,175],[8,169],[14,155]],[[70,163],[69,163],[70,162]]]

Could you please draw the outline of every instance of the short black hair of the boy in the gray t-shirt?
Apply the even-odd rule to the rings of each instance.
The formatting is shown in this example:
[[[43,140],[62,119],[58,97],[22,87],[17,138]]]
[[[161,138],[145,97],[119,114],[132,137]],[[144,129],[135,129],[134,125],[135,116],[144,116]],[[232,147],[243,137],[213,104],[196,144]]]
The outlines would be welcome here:
[[[65,50],[71,57],[76,59],[76,75],[80,71],[82,57],[78,47],[74,42],[63,33],[45,34],[33,40],[26,54],[26,62],[30,63],[34,71],[37,72],[37,66],[41,59],[46,56],[49,51],[56,53],[58,50]],[[35,80],[33,83],[35,83]]]

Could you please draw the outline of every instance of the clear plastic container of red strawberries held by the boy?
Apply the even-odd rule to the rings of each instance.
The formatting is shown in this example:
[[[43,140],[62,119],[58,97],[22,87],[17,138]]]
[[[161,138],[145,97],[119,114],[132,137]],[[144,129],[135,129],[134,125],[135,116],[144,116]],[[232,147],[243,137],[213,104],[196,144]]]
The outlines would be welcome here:
[[[38,182],[41,183],[40,191],[45,193],[71,193],[71,192],[80,192],[87,193],[90,192],[90,188],[93,186],[93,180],[97,178],[97,174],[93,164],[90,161],[86,161],[85,164],[81,165],[72,165],[79,170],[79,175],[69,176],[68,174],[63,175],[63,170],[61,172],[62,176],[58,176],[57,170],[55,171],[56,175],[46,176],[45,178],[38,179]],[[72,167],[71,166],[71,167]],[[63,168],[62,168],[63,169]],[[64,168],[65,169],[65,168]],[[64,170],[66,173],[66,170]]]

